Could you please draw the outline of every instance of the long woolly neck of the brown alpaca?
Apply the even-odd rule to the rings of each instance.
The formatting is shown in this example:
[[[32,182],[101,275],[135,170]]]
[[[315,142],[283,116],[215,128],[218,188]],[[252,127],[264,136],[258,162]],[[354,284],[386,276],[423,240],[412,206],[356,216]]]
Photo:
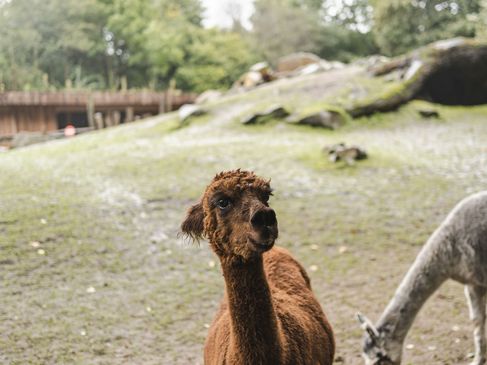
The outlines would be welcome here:
[[[279,364],[278,321],[262,256],[246,263],[222,260],[222,269],[231,315],[233,361],[237,364]]]

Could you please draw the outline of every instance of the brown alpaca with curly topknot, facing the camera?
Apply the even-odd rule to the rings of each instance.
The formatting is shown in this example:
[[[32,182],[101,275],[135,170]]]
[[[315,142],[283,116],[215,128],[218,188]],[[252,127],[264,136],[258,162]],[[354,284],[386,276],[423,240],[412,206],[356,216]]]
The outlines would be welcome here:
[[[218,255],[225,296],[205,364],[331,365],[333,332],[303,267],[282,248],[268,181],[253,172],[215,176],[181,228]]]

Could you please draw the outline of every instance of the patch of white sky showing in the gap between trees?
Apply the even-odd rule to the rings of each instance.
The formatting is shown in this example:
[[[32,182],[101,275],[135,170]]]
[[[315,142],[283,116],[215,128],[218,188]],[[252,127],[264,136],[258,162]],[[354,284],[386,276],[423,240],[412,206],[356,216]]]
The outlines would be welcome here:
[[[253,0],[201,0],[206,8],[203,24],[205,27],[228,28],[233,17],[239,18],[245,28],[250,28],[249,18],[254,12]]]

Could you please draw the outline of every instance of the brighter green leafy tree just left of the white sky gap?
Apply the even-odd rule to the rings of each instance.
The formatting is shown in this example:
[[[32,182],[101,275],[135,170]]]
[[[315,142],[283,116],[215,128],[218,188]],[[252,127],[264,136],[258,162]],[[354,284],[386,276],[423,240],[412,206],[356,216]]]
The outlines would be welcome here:
[[[184,90],[225,88],[253,60],[238,34],[201,26],[197,0],[115,0],[108,29],[118,51],[117,75],[129,86]]]

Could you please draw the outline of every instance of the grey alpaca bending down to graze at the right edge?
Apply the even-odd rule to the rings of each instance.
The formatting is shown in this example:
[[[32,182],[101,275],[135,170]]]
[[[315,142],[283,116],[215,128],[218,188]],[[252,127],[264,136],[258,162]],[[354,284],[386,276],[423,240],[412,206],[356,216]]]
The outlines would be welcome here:
[[[374,326],[358,314],[366,331],[362,356],[367,365],[401,363],[404,339],[414,318],[447,279],[465,284],[474,324],[475,357],[485,364],[487,293],[487,191],[471,195],[450,212],[428,239]]]

